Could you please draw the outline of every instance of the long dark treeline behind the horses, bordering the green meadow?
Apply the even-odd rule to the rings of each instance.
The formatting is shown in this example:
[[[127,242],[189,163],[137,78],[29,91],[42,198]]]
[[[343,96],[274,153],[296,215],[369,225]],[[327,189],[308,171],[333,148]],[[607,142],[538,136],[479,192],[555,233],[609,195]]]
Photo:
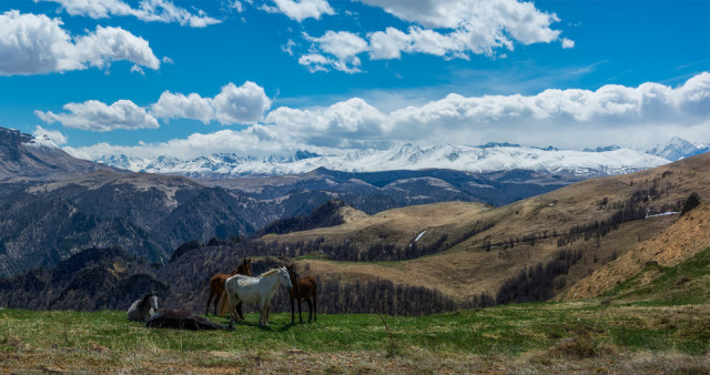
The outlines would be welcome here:
[[[210,277],[215,273],[231,272],[244,256],[252,255],[252,252],[244,252],[244,249],[235,251],[230,246],[209,246],[190,251],[160,270],[152,270],[143,260],[130,256],[122,250],[87,250],[55,270],[38,270],[0,283],[0,302],[13,308],[126,310],[143,293],[156,291],[161,307],[203,313]],[[414,316],[513,302],[544,301],[551,296],[551,291],[564,286],[561,278],[556,277],[565,274],[580,255],[578,252],[559,252],[549,264],[531,267],[507,281],[495,296],[481,294],[465,302],[446,296],[436,288],[397,285],[387,280],[354,283],[320,280],[318,312],[379,312]],[[252,263],[252,271],[257,275],[287,263],[287,259],[258,259]],[[125,272],[116,274],[113,272],[116,266]],[[310,274],[308,265],[304,267],[302,274]],[[314,276],[318,278],[317,274]],[[254,311],[255,306],[245,308]],[[307,305],[304,304],[303,308],[307,311]],[[285,288],[280,288],[276,293],[273,311],[291,311]]]

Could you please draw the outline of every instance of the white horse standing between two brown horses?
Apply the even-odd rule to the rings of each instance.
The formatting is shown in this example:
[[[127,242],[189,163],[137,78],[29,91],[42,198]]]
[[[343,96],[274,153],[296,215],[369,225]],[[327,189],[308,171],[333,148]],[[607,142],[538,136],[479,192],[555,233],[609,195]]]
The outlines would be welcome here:
[[[274,268],[256,277],[234,275],[227,278],[224,283],[224,290],[230,301],[232,320],[239,320],[239,316],[234,314],[234,307],[236,307],[236,304],[241,301],[246,303],[258,302],[258,324],[268,325],[271,298],[274,297],[276,288],[282,284],[285,285],[288,291],[293,287],[286,267]]]

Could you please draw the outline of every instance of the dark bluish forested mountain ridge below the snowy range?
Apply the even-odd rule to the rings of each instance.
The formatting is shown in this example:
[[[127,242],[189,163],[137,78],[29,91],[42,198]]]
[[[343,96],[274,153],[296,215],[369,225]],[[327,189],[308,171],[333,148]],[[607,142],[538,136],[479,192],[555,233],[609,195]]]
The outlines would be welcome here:
[[[4,169],[10,179],[0,180],[0,277],[53,266],[88,246],[120,245],[163,263],[185,242],[248,235],[334,199],[367,214],[440,201],[501,205],[579,181],[530,171],[326,169],[206,181],[78,160],[45,139],[18,131],[0,129],[0,153],[17,156]]]

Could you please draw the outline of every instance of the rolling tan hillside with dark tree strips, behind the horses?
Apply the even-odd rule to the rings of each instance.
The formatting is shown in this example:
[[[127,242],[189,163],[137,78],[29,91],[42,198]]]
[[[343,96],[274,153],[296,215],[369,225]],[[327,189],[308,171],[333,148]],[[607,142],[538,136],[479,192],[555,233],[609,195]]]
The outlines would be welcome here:
[[[245,256],[254,259],[254,273],[295,261],[301,274],[318,278],[322,311],[331,313],[430,314],[562,298],[584,285],[599,294],[638,274],[638,267],[627,273],[609,268],[632,257],[636,249],[677,243],[674,252],[683,254],[678,262],[702,249],[707,204],[680,220],[678,212],[691,192],[710,196],[709,164],[710,154],[701,154],[586,180],[501,207],[446,202],[368,215],[339,206],[336,211],[348,217],[343,224],[194,246],[149,275],[169,285],[169,306],[197,312],[204,308],[210,276],[232,271]],[[317,212],[313,217],[321,217]],[[296,221],[291,230],[303,224]],[[643,262],[640,257],[636,264]],[[601,277],[607,284],[595,283],[595,273],[605,270],[612,270]],[[18,277],[13,293],[23,290],[23,276]],[[278,294],[275,310],[287,308],[284,298]]]

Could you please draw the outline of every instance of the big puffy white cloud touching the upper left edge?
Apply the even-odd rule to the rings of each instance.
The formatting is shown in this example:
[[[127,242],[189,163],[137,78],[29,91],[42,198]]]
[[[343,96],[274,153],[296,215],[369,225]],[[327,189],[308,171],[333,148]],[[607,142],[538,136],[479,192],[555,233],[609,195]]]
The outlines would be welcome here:
[[[0,75],[28,75],[103,68],[131,61],[160,68],[148,41],[114,27],[72,38],[60,19],[11,10],[0,14]]]

